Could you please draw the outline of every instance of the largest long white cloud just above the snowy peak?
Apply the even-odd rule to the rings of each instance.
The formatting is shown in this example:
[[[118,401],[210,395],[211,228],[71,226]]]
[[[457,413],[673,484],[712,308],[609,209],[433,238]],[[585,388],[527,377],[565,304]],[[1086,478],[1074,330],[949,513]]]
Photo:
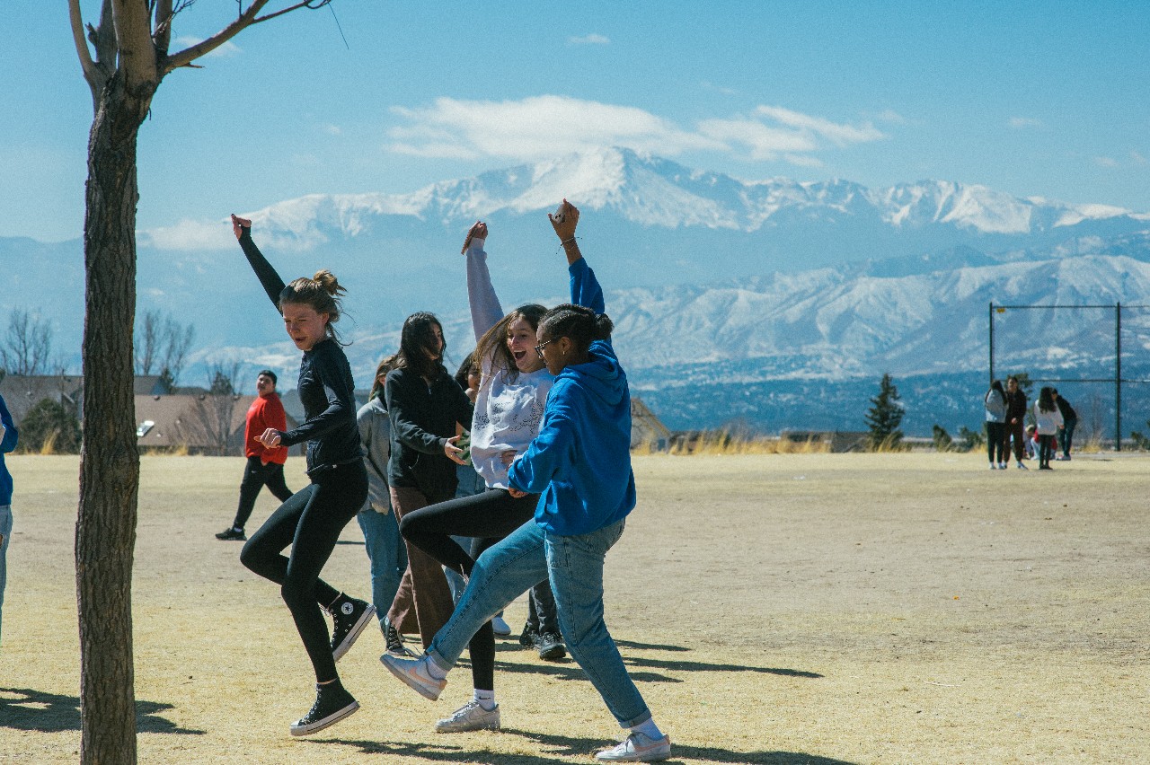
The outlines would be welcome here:
[[[887,138],[869,123],[841,124],[781,107],[761,106],[751,116],[708,118],[684,128],[635,107],[562,95],[520,101],[440,98],[428,107],[396,107],[392,114],[405,124],[389,130],[389,150],[452,160],[538,161],[621,146],[660,156],[713,152],[818,167],[812,155],[828,146]]]

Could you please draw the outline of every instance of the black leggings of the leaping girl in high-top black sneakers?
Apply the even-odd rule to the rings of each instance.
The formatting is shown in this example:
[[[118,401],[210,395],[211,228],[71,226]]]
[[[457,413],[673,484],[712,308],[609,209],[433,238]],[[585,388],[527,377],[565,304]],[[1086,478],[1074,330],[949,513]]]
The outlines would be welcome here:
[[[339,677],[331,658],[328,623],[320,611],[321,605],[339,597],[339,590],[320,579],[320,571],[365,500],[367,471],[361,459],[313,476],[307,487],[268,517],[239,554],[245,566],[281,586],[316,682]],[[289,544],[291,557],[283,555]]]

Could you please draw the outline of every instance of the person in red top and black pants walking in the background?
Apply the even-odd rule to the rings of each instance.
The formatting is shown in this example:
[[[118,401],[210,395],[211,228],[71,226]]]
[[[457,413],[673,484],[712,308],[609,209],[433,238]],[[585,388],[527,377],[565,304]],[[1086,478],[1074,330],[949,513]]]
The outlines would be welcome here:
[[[231,526],[216,534],[216,539],[244,541],[247,534],[244,526],[252,517],[255,497],[264,486],[277,500],[286,502],[292,492],[284,481],[284,464],[288,462],[288,449],[277,447],[269,449],[260,441],[263,431],[269,427],[277,431],[288,430],[288,414],[284,411],[279,394],[276,393],[276,373],[266,369],[255,376],[255,401],[247,408],[244,422],[244,454],[247,465],[244,468],[244,480],[239,484],[239,507]]]

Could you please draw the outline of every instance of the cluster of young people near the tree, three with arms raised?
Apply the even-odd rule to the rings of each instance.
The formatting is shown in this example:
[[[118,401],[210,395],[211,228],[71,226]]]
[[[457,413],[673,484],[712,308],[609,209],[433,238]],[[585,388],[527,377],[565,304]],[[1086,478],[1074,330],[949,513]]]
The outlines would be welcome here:
[[[304,351],[298,388],[305,422],[254,434],[261,449],[248,455],[239,512],[217,534],[246,536],[248,495],[254,499],[268,485],[279,496],[283,485],[282,469],[278,481],[275,469],[267,469],[275,462],[269,454],[307,442],[310,482],[281,497],[283,504],[240,552],[245,566],[281,586],[315,671],[315,703],[292,722],[292,735],[316,733],[359,709],[336,662],[377,611],[388,647],[381,660],[427,698],[439,696],[447,672],[469,650],[473,697],[439,720],[437,732],[498,729],[492,619],[534,590],[537,625],[524,631],[551,633],[552,640],[561,633],[629,729],[597,759],[669,757],[670,741],[654,724],[603,619],[604,559],[636,504],[630,395],[611,345],[603,289],[575,239],[578,216],[566,200],[549,216],[566,254],[572,293],[570,303],[550,310],[527,304],[505,315],[486,265],[488,226],[477,222],[468,232],[462,253],[476,338],[474,401],[444,368],[438,319],[417,312],[405,320],[398,353],[381,362],[371,399],[358,411],[334,326],[343,295],[336,277],[320,271],[284,285],[253,242],[251,222],[232,216],[248,263]],[[274,376],[271,381],[274,388]],[[457,471],[468,464],[460,443],[465,431],[483,488],[457,496]],[[356,515],[371,564],[373,603],[320,578],[339,533]],[[459,542],[463,538],[470,539],[468,549]],[[458,603],[444,570],[466,581]],[[425,652],[407,651],[401,633],[417,633]]]

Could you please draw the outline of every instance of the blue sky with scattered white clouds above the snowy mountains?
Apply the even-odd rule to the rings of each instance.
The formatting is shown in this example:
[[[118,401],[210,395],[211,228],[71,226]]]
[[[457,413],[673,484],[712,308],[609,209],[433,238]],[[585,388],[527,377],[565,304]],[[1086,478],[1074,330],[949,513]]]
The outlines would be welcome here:
[[[86,20],[99,5],[80,1]],[[161,84],[140,229],[596,145],[742,179],[936,178],[1150,211],[1150,3],[332,8],[252,28]],[[176,37],[235,9],[199,0]],[[64,0],[0,2],[0,237],[77,238],[92,106]]]

